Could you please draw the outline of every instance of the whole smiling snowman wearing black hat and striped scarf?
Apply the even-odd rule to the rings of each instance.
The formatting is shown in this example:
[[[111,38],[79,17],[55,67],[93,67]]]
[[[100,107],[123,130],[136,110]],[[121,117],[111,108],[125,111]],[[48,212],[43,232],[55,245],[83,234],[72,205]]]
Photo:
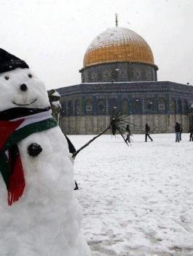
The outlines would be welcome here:
[[[0,255],[90,256],[68,140],[44,83],[0,49]]]

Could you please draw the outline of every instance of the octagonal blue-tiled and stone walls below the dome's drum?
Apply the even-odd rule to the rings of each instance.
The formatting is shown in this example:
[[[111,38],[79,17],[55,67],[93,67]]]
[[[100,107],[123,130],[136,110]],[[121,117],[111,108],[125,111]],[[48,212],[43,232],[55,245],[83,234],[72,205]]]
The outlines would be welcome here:
[[[98,134],[111,113],[121,111],[134,124],[133,133],[174,132],[176,121],[189,130],[193,87],[172,82],[82,83],[58,89],[60,127],[66,134]]]

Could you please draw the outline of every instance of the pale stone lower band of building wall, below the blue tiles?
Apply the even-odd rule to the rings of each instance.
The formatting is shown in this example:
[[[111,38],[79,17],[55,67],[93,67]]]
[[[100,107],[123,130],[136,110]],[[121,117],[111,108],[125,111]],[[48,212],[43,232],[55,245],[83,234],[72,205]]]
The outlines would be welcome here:
[[[133,134],[144,133],[146,123],[151,127],[151,133],[174,132],[176,121],[181,124],[184,132],[189,130],[189,116],[187,115],[130,115],[127,120],[134,124],[134,126],[130,125]],[[92,135],[103,132],[108,127],[109,121],[109,116],[61,117],[60,127],[68,135]]]

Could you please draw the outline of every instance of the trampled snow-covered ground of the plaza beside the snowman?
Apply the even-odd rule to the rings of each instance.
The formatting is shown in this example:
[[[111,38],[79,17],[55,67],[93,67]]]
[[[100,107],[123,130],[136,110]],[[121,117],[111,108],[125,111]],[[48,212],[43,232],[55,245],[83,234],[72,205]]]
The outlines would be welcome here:
[[[76,197],[94,256],[193,255],[193,143],[103,135],[78,154]],[[71,135],[76,149],[91,135]]]

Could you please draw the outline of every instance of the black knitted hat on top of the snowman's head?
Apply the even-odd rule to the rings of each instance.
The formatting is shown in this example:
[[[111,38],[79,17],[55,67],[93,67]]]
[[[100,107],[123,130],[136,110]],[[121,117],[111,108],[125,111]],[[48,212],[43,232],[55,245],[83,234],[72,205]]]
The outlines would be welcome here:
[[[29,68],[25,61],[0,48],[0,73],[16,69],[17,67]]]

